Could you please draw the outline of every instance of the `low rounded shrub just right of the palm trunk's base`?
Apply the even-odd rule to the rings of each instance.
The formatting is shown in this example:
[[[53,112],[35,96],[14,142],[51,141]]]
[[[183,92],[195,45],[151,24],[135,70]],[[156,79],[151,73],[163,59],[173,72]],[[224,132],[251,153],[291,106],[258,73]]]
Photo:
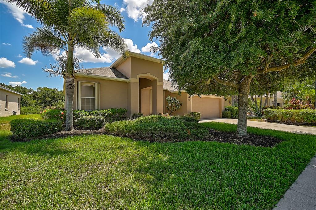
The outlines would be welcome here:
[[[104,117],[102,116],[83,116],[75,120],[76,126],[83,130],[100,129],[105,125]]]

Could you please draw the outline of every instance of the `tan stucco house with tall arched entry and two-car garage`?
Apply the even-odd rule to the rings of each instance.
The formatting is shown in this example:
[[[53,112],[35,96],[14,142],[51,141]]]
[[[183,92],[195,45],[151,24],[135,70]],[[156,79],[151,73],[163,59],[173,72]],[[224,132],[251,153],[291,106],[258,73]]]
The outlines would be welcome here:
[[[170,95],[183,103],[175,115],[194,111],[201,112],[201,118],[222,116],[223,97],[189,97],[185,92],[178,95],[178,90],[163,79],[162,60],[135,52],[129,54],[128,59],[120,57],[110,67],[88,69],[89,74],[77,73],[74,109],[122,107],[128,110],[129,116],[139,112],[144,115],[167,113],[166,97]]]

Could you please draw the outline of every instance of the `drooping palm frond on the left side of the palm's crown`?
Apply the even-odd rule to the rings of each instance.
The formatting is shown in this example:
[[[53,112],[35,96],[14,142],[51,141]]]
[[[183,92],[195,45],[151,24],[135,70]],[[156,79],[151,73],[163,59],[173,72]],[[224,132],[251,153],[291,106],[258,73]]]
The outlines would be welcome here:
[[[23,49],[27,57],[31,57],[34,51],[41,51],[44,56],[57,54],[60,49],[66,50],[67,43],[60,34],[53,33],[51,28],[36,28],[36,31],[25,36]]]

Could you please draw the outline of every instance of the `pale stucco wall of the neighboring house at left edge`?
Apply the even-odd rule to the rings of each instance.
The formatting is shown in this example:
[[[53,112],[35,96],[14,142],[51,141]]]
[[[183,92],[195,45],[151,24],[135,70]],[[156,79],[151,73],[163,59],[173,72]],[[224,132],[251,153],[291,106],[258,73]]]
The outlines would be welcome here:
[[[6,95],[9,96],[8,110],[5,109],[5,96]],[[16,111],[16,114],[19,115],[20,114],[20,109],[18,109],[19,98],[21,101],[20,95],[0,89],[0,116],[1,117],[10,116],[12,115],[13,111]]]

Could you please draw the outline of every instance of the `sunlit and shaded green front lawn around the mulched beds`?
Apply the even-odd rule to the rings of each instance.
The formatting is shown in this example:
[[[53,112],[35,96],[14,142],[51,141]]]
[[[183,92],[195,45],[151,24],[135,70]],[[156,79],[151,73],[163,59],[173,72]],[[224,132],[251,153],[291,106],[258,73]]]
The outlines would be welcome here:
[[[11,142],[2,129],[1,209],[271,209],[316,153],[315,136],[250,127],[285,141],[273,148],[109,135]]]

